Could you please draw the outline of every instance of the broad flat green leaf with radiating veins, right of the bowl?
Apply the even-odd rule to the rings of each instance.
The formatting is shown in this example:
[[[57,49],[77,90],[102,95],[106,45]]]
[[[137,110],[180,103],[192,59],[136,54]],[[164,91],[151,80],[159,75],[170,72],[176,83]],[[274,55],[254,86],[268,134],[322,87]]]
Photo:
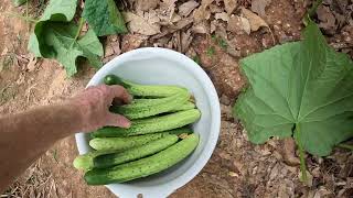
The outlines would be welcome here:
[[[301,42],[242,59],[249,87],[234,107],[254,143],[291,136],[325,156],[353,136],[353,63],[310,22]]]

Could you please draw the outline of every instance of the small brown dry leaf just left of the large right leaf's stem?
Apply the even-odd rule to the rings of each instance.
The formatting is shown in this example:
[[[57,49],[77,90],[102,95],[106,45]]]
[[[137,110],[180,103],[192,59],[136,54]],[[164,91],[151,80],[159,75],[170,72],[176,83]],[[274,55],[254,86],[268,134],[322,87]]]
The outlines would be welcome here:
[[[296,155],[296,142],[292,138],[281,140],[279,150],[287,165],[297,166],[300,164]]]

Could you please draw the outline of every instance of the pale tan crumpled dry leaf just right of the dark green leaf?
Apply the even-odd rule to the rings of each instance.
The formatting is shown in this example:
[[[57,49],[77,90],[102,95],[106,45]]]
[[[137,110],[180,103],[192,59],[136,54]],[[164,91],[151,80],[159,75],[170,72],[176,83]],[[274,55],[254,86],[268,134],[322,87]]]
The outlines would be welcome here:
[[[156,11],[141,12],[135,14],[132,12],[122,12],[125,21],[128,23],[129,31],[143,35],[154,35],[160,33],[160,19]]]

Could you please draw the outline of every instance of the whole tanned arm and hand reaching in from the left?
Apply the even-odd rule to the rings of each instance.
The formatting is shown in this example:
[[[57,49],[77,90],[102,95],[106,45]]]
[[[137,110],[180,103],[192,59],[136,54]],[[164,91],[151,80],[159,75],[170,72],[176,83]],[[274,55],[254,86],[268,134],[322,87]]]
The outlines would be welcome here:
[[[62,103],[0,116],[0,191],[65,136],[104,125],[129,128],[128,119],[109,112],[114,100],[128,103],[131,96],[121,86],[100,85]]]

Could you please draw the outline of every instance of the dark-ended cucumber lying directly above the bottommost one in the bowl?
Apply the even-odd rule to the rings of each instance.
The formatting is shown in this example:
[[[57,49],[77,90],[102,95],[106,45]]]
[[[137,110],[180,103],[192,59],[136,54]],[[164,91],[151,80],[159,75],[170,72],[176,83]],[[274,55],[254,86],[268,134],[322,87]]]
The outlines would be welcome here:
[[[151,141],[141,146],[132,147],[121,153],[113,153],[100,155],[94,158],[94,166],[97,168],[106,168],[119,165],[126,162],[139,160],[148,155],[158,153],[178,142],[179,138],[175,134],[167,134],[165,136]]]

